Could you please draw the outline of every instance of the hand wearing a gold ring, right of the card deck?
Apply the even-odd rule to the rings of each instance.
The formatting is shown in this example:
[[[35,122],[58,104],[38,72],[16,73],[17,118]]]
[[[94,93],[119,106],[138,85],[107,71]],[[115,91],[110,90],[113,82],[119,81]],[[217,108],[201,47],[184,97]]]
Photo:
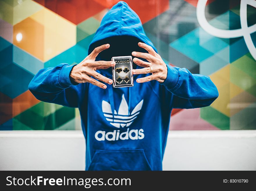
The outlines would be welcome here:
[[[136,82],[143,83],[149,82],[151,80],[157,80],[158,82],[163,83],[167,77],[167,66],[162,60],[161,56],[156,53],[152,47],[145,43],[139,42],[138,45],[139,47],[148,51],[148,53],[132,52],[131,54],[136,57],[145,58],[149,62],[134,58],[133,62],[144,68],[133,69],[132,74],[148,74],[152,72],[152,75],[146,76],[144,78],[138,78]]]

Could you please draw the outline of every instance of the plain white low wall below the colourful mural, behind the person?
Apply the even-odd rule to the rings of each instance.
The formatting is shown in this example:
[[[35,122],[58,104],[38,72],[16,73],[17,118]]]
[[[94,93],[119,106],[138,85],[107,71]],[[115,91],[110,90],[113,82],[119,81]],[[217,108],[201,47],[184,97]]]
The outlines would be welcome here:
[[[81,131],[1,131],[0,170],[84,170]],[[255,131],[170,131],[164,170],[256,170]]]

